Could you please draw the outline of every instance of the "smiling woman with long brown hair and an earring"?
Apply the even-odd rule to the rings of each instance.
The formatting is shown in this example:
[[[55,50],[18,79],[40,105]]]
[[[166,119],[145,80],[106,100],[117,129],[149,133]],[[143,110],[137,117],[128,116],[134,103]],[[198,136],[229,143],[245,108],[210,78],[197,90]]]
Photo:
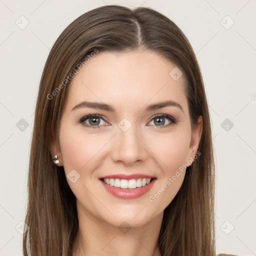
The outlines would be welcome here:
[[[68,25],[36,103],[24,255],[215,255],[214,162],[200,69],[150,8]]]

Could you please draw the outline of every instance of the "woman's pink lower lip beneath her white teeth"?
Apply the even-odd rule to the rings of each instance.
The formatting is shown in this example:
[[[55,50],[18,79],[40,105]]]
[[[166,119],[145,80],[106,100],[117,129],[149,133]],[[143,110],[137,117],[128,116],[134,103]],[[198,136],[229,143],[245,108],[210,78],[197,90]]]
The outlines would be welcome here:
[[[121,199],[135,199],[143,194],[145,194],[153,185],[156,178],[154,178],[149,184],[134,189],[125,189],[115,186],[110,186],[104,183],[102,180],[99,181],[103,184],[105,189],[112,195]]]

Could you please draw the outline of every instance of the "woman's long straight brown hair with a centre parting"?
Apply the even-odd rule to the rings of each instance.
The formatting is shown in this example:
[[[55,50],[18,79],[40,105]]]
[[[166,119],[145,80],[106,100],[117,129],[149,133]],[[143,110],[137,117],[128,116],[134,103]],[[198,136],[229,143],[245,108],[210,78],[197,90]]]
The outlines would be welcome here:
[[[191,127],[202,116],[198,151],[183,183],[164,209],[158,238],[162,256],[215,255],[214,160],[209,111],[200,69],[190,43],[177,25],[148,8],[119,5],[90,10],[59,35],[46,60],[36,102],[28,172],[28,204],[23,255],[70,256],[78,232],[76,198],[49,150],[70,73],[95,49],[149,49],[171,61],[185,77]],[[64,81],[64,82],[63,82]],[[60,86],[62,84],[62,86]],[[61,88],[60,88],[61,87]]]

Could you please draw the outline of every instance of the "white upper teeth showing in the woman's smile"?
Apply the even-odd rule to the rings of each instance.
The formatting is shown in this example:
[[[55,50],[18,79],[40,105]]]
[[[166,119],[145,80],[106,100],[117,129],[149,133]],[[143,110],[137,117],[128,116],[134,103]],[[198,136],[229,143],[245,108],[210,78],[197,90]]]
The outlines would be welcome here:
[[[121,188],[136,188],[149,184],[150,178],[138,178],[138,179],[119,179],[119,178],[103,178],[104,183]]]

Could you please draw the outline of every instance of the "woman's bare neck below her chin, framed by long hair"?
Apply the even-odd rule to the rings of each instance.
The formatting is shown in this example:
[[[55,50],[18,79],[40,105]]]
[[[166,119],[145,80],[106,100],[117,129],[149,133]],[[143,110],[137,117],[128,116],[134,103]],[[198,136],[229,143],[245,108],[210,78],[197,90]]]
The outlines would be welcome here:
[[[161,256],[158,236],[162,214],[141,226],[115,226],[77,207],[79,230],[72,256]],[[122,223],[123,220],[120,220]]]

